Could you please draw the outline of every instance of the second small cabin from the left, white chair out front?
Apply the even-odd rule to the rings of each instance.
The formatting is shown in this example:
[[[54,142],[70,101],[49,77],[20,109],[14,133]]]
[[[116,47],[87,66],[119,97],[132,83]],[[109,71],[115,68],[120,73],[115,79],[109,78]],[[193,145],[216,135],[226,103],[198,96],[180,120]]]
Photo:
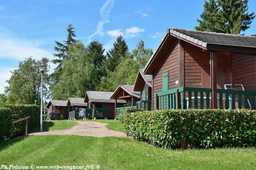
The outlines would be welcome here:
[[[87,103],[84,103],[84,98],[68,98],[68,119],[84,119],[84,109],[87,108]],[[82,113],[80,112],[82,110]]]

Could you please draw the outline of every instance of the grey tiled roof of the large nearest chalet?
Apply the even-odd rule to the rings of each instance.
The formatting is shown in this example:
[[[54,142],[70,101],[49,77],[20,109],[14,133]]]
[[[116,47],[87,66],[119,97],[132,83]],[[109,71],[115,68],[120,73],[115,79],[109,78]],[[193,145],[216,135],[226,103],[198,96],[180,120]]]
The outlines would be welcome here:
[[[255,36],[169,28],[144,67],[144,73],[151,74],[151,72],[148,71],[148,67],[160,51],[161,47],[164,46],[164,43],[166,43],[166,41],[170,42],[170,39],[173,39],[173,37],[186,41],[206,51],[256,55]]]

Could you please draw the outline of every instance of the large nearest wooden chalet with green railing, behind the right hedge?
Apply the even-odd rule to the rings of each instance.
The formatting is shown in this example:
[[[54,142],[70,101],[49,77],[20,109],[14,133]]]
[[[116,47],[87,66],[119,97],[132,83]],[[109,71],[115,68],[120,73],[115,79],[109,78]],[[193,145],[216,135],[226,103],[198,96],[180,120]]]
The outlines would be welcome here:
[[[255,109],[256,37],[167,29],[144,74],[152,109]]]

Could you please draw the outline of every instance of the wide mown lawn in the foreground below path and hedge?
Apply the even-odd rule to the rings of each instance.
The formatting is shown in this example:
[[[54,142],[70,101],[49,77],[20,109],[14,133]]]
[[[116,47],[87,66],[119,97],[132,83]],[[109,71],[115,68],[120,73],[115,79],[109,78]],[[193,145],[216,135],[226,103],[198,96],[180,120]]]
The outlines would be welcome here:
[[[1,164],[101,169],[255,169],[255,148],[172,150],[126,138],[31,136],[0,142]]]

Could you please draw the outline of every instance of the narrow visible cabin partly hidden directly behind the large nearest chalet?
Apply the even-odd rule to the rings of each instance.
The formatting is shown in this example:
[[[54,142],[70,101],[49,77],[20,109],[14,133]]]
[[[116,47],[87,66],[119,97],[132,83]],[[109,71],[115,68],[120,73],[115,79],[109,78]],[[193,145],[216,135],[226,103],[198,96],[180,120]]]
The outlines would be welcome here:
[[[143,69],[140,69],[133,90],[140,92],[140,101],[136,104],[137,108],[151,110],[152,75],[146,75],[143,73]]]

